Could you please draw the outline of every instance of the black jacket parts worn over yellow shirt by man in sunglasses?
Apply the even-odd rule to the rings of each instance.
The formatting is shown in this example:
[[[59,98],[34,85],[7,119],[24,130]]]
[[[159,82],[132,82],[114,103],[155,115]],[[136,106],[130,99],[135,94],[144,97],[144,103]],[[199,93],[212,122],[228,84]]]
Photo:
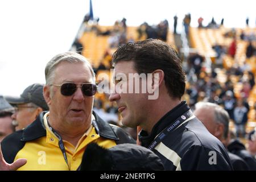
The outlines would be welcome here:
[[[26,142],[46,136],[46,129],[43,124],[43,116],[46,113],[46,111],[42,112],[38,118],[36,118],[36,120],[28,125],[24,130],[15,131],[13,134],[3,139],[1,142],[1,148],[3,158],[5,158],[7,163],[14,162],[16,154],[24,147]],[[120,127],[109,125],[109,123],[103,121],[94,112],[93,115],[95,117],[93,126],[101,137],[113,139],[117,144],[136,143],[135,140]]]

